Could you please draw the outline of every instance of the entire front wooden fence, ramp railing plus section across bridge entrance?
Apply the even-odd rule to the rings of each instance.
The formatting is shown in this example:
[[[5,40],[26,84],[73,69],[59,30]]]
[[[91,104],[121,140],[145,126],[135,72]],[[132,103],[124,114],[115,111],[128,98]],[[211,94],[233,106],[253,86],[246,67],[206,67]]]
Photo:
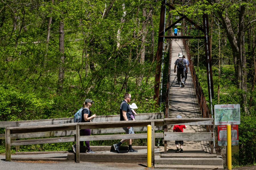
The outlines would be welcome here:
[[[162,113],[160,114],[162,115]],[[152,160],[154,160],[154,145],[155,138],[164,138],[164,140],[188,140],[188,141],[213,141],[213,133],[155,133],[157,127],[163,129],[164,125],[173,124],[189,124],[189,125],[211,125],[213,124],[212,118],[190,118],[190,119],[155,119],[155,120],[135,120],[135,121],[108,121],[108,122],[86,122],[86,123],[69,123],[61,125],[41,125],[41,126],[22,126],[22,127],[9,127],[5,130],[5,160],[11,161],[11,146],[17,145],[34,145],[34,144],[44,144],[44,143],[61,143],[61,142],[76,142],[77,153],[75,160],[80,162],[80,141],[97,141],[97,140],[114,140],[114,139],[146,139],[146,133],[137,134],[123,134],[123,135],[91,135],[91,136],[80,136],[80,129],[98,129],[98,133],[108,132],[114,133],[123,132],[123,127],[134,127],[134,129],[139,128],[145,129],[147,125],[152,126]],[[107,129],[107,130],[106,130]],[[100,131],[101,130],[101,131]],[[75,133],[70,133],[75,131]],[[45,135],[43,135],[45,134]],[[49,137],[49,134],[53,138],[43,138],[43,139],[25,139],[18,141],[11,141],[11,136],[23,137]],[[68,136],[75,134],[75,136],[69,137],[56,137],[56,136]],[[211,149],[213,153],[213,148]]]

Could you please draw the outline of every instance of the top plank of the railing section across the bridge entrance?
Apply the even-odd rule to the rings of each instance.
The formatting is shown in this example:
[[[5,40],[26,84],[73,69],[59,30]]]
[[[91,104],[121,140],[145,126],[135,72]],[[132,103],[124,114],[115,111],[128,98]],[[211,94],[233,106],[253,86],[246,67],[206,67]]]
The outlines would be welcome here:
[[[213,118],[165,118],[164,125],[213,125]]]

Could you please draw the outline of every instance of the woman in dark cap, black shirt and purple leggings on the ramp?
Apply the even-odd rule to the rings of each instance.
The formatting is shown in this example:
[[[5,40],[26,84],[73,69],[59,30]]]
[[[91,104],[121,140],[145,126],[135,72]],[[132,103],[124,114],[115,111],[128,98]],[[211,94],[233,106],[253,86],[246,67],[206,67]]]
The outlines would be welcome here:
[[[96,117],[96,114],[92,115],[92,112],[90,110],[90,107],[92,106],[93,102],[94,101],[91,99],[85,99],[85,101],[83,103],[83,110],[82,110],[82,121],[81,121],[82,123],[83,122],[92,122],[91,119]],[[81,136],[90,136],[91,135],[91,129],[81,129],[81,131],[82,131]],[[90,141],[85,141],[85,145],[86,145],[87,153],[91,153],[91,154],[95,153],[90,149]],[[76,145],[72,145],[72,149],[76,153]]]

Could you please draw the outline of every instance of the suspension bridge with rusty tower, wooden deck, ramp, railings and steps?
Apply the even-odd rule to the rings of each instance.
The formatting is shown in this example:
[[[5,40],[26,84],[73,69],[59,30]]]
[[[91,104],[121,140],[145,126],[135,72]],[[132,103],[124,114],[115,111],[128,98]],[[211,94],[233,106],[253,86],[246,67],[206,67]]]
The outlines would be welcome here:
[[[6,128],[5,134],[0,134],[0,139],[5,139],[5,161],[11,160],[55,160],[55,161],[80,161],[85,162],[146,162],[147,154],[145,146],[134,146],[138,153],[127,153],[127,146],[120,148],[117,154],[112,146],[92,146],[96,154],[88,155],[83,152],[83,141],[113,140],[113,139],[146,139],[146,133],[115,135],[113,133],[123,132],[122,127],[133,127],[134,131],[146,131],[146,126],[152,126],[152,162],[155,168],[168,169],[223,169],[223,160],[217,155],[214,149],[214,120],[211,108],[205,100],[204,92],[198,81],[193,61],[190,56],[187,39],[205,40],[205,57],[207,61],[207,80],[209,99],[213,97],[211,55],[208,48],[208,16],[203,14],[203,27],[195,24],[185,15],[179,13],[180,18],[172,23],[166,21],[166,8],[174,10],[173,5],[162,1],[160,11],[158,50],[156,60],[157,82],[154,87],[154,99],[158,101],[160,92],[161,59],[163,56],[164,43],[169,43],[169,67],[168,83],[166,91],[165,112],[138,114],[135,121],[119,121],[119,115],[97,116],[91,123],[72,123],[73,118],[28,120],[28,121],[7,121],[0,122],[0,128]],[[170,17],[168,17],[170,18]],[[193,25],[203,36],[187,35],[186,22]],[[172,36],[172,27],[177,23],[181,24],[181,36]],[[167,27],[166,27],[167,25]],[[164,41],[167,39],[167,41]],[[179,39],[179,41],[174,41]],[[184,88],[176,84],[177,75],[174,73],[174,62],[178,53],[183,53],[189,60],[187,81]],[[162,101],[160,101],[162,102]],[[181,115],[182,119],[176,116]],[[183,133],[172,132],[174,125],[187,125]],[[80,136],[80,129],[92,129],[91,136]],[[164,130],[163,133],[155,133],[156,130]],[[111,134],[110,134],[111,133]],[[107,135],[106,135],[107,134]],[[47,137],[47,138],[42,138]],[[32,139],[33,138],[33,139]],[[34,139],[39,138],[39,139]],[[164,146],[156,146],[155,139],[163,138]],[[22,140],[20,140],[22,139]],[[183,140],[183,153],[176,153],[174,141]],[[77,152],[61,152],[59,157],[42,156],[42,153],[26,153],[28,157],[11,155],[11,146],[36,145],[44,143],[76,142]],[[19,152],[17,152],[19,153]],[[47,152],[48,153],[48,152]],[[25,154],[25,153],[24,153]],[[41,154],[40,156],[34,156]]]

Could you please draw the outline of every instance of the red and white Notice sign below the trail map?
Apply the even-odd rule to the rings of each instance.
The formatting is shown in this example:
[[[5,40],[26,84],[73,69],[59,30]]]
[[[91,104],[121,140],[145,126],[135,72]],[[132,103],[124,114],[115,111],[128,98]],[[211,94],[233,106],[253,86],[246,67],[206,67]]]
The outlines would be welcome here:
[[[227,146],[227,125],[218,126],[218,145]],[[231,125],[231,145],[238,145],[238,125]]]

